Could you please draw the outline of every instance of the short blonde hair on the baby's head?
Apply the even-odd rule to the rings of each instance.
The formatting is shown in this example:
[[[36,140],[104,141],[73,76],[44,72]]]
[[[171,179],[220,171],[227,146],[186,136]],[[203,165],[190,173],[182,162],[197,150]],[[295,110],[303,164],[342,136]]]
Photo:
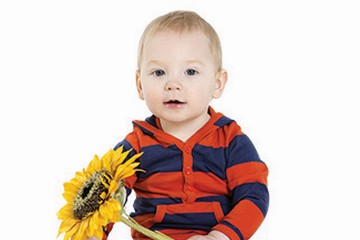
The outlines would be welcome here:
[[[139,42],[137,65],[140,69],[146,38],[157,32],[171,30],[176,32],[201,31],[209,40],[210,51],[218,70],[222,69],[222,49],[218,34],[205,19],[192,11],[173,11],[155,18],[145,28]]]

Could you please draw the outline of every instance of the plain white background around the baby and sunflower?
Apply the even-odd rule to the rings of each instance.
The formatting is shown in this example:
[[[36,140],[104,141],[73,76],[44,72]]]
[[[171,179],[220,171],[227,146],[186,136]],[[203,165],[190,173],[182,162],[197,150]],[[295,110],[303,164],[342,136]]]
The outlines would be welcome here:
[[[56,238],[62,183],[149,115],[134,81],[143,29],[188,9],[222,40],[229,82],[212,105],[270,169],[253,239],[359,239],[357,2],[2,1],[2,238]]]

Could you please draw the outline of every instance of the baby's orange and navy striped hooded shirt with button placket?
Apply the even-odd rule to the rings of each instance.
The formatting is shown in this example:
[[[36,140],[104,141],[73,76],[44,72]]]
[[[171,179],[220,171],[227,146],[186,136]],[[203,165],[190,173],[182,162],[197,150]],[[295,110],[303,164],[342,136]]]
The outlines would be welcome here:
[[[210,120],[186,142],[165,133],[154,115],[134,121],[115,149],[143,152],[138,172],[126,181],[136,193],[131,216],[174,239],[218,230],[249,239],[264,220],[268,169],[239,125],[209,108]],[[134,239],[147,239],[132,231]]]

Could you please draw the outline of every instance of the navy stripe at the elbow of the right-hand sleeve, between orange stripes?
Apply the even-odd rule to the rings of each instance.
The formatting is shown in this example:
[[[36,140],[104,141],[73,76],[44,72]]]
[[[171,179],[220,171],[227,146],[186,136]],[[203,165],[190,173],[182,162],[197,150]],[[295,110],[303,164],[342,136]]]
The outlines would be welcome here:
[[[265,217],[269,209],[269,191],[266,185],[261,183],[246,183],[232,190],[234,205],[239,201],[247,199],[252,201]]]

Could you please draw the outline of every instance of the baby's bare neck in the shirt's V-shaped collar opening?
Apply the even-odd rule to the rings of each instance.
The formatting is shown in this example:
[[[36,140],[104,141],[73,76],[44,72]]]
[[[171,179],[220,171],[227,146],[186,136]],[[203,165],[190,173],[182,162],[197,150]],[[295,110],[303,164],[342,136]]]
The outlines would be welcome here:
[[[209,119],[210,115],[206,114],[203,118],[181,123],[168,122],[160,119],[160,124],[164,132],[173,135],[183,142],[186,142],[200,128],[202,128],[207,123],[207,121],[209,121]]]

